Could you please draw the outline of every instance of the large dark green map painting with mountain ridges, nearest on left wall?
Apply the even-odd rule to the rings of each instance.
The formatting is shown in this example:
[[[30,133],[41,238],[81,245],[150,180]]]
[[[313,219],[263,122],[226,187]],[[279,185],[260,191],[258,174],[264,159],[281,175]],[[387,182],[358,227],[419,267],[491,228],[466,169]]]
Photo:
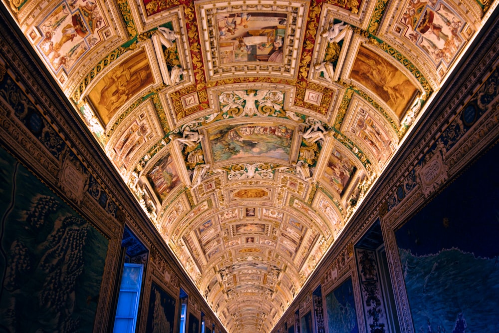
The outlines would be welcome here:
[[[0,332],[92,332],[109,241],[0,148]]]

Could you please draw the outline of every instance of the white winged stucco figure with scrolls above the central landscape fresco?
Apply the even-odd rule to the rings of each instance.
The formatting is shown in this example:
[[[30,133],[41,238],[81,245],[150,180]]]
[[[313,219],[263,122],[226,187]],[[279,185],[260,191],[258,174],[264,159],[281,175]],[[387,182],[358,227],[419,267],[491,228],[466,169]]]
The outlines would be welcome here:
[[[234,90],[220,94],[219,101],[224,118],[268,116],[271,112],[281,111],[283,93],[277,90]]]

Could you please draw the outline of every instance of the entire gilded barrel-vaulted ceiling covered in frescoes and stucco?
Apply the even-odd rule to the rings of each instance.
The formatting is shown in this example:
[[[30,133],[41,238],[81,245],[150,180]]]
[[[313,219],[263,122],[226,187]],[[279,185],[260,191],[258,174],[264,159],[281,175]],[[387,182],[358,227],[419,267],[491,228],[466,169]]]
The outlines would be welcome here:
[[[3,0],[229,332],[270,332],[498,1]]]

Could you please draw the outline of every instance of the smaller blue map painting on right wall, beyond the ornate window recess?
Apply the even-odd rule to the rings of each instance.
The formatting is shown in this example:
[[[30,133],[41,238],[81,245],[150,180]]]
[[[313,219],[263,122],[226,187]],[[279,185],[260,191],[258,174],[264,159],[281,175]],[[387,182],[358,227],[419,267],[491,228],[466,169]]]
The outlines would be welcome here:
[[[327,332],[358,333],[352,279],[326,296]]]

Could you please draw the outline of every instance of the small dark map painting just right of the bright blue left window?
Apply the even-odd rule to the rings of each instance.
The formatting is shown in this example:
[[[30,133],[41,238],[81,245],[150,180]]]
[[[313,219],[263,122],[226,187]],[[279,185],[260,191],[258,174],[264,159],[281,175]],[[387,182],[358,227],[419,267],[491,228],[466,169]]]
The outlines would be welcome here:
[[[151,284],[146,332],[173,333],[175,303],[175,299],[153,282]]]

